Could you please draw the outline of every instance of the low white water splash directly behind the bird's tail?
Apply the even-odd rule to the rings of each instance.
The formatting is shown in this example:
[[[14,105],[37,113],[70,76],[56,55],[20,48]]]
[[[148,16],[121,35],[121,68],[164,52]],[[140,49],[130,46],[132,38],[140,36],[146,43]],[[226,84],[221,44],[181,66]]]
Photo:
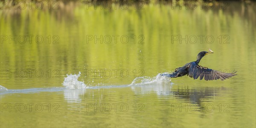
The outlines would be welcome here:
[[[171,79],[166,76],[161,76],[160,73],[153,78],[148,76],[137,77],[135,78],[129,86],[136,86],[136,85],[144,85],[144,84],[152,84],[152,83],[169,83]]]

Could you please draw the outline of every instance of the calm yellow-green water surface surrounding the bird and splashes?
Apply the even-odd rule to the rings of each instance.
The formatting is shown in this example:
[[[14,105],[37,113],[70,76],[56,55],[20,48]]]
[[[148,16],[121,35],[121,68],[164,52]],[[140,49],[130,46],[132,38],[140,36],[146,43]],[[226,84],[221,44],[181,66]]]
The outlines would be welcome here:
[[[21,90],[0,95],[1,127],[256,127],[255,3],[231,2],[227,10],[153,2],[142,10],[80,1],[58,7],[0,10],[0,85]],[[214,54],[200,65],[237,76],[128,86],[208,48]],[[66,74],[79,72],[94,88],[63,89]],[[50,89],[25,91],[33,88]]]

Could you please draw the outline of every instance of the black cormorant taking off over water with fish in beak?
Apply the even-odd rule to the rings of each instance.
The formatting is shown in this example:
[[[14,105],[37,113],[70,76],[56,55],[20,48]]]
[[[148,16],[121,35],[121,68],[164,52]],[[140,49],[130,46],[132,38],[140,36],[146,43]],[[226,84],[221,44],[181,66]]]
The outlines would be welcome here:
[[[224,80],[237,75],[235,74],[236,72],[222,73],[220,71],[212,70],[207,67],[202,67],[198,65],[201,58],[203,58],[204,55],[207,55],[209,53],[213,53],[213,51],[209,49],[209,52],[205,52],[205,51],[199,52],[196,58],[196,61],[187,63],[183,67],[176,68],[172,74],[161,74],[161,76],[180,77],[180,76],[188,75],[189,77],[194,79],[198,79],[198,77],[200,76],[200,80],[203,79],[204,77],[204,79],[208,81],[208,80],[217,80],[217,79]]]

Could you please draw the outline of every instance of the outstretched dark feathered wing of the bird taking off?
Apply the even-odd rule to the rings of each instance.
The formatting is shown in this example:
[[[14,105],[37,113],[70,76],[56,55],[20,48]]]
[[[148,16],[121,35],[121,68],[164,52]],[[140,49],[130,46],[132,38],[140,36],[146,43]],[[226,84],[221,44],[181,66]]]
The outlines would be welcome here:
[[[217,80],[217,79],[221,79],[222,81],[224,79],[228,79],[232,76],[235,76],[237,74],[235,74],[236,72],[233,73],[222,73],[220,71],[217,70],[212,70],[209,69],[207,67],[202,67],[199,66],[198,64],[195,63],[191,63],[190,67],[189,67],[189,77],[194,78],[194,79],[198,79],[198,77],[200,76],[200,80],[204,79],[205,80]]]

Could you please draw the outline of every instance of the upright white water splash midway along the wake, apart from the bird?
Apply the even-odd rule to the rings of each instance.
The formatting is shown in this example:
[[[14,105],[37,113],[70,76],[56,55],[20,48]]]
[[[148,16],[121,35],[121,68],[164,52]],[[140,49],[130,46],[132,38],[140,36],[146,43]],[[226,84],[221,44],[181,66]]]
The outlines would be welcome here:
[[[82,81],[78,81],[79,76],[81,75],[81,72],[79,72],[78,75],[70,74],[65,77],[64,82],[62,83],[67,89],[84,89],[86,88],[86,85]]]

